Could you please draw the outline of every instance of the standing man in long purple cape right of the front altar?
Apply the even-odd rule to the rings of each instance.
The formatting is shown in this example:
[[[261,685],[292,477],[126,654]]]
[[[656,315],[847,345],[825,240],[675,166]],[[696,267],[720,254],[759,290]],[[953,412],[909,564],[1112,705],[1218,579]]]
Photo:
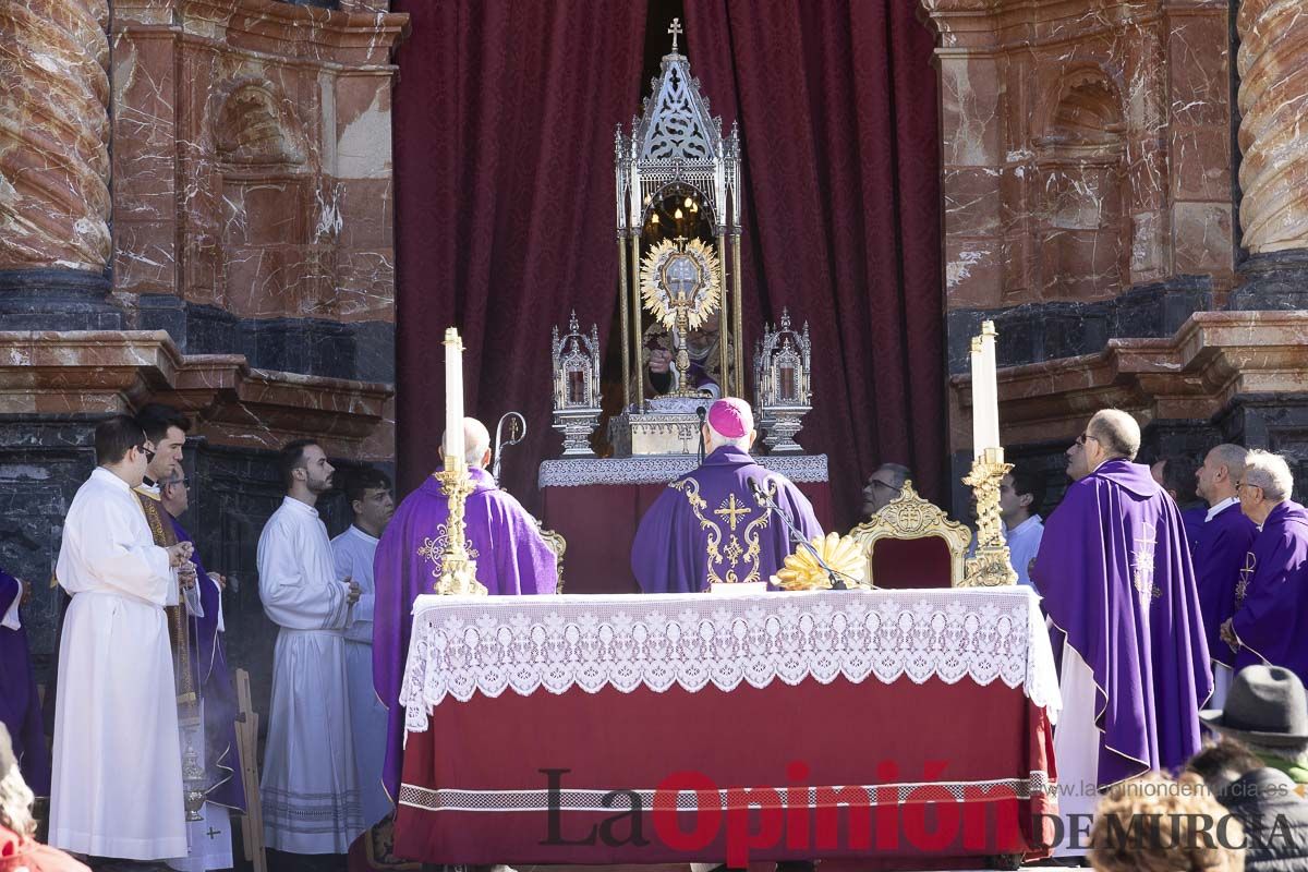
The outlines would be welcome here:
[[[1125,412],[1090,420],[1067,450],[1074,484],[1045,522],[1031,573],[1063,642],[1054,758],[1065,817],[1093,813],[1110,784],[1189,760],[1213,692],[1181,512],[1133,463],[1139,444]]]

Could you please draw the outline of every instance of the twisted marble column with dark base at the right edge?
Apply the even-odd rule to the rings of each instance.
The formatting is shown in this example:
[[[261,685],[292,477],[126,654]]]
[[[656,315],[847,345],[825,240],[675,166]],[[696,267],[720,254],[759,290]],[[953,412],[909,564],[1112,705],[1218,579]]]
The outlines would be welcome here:
[[[1231,307],[1308,306],[1308,14],[1301,0],[1243,0],[1240,222],[1249,259]]]

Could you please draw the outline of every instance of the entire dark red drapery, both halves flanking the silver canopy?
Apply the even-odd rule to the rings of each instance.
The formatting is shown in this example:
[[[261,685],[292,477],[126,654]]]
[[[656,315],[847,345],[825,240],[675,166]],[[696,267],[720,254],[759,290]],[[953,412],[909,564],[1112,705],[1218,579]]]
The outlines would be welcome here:
[[[938,497],[944,460],[933,38],[910,0],[688,0],[692,71],[744,146],[747,349],[782,306],[812,326],[837,523],[880,461]],[[441,335],[464,335],[467,409],[522,411],[505,485],[539,511],[549,327],[607,333],[616,297],[613,126],[641,81],[646,4],[396,0],[402,488],[436,463]],[[607,335],[604,341],[607,341]]]

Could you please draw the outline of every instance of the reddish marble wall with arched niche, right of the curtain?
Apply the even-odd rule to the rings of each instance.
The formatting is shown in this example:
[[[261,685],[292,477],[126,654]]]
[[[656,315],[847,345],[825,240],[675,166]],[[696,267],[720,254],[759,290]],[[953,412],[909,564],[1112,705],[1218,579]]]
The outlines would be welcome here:
[[[951,371],[1168,336],[1235,282],[1226,0],[923,0]]]

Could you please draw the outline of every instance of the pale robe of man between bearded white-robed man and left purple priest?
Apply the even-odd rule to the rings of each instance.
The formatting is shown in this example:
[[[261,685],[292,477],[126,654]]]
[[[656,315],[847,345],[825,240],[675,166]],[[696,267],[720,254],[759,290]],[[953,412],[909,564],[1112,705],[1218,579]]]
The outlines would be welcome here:
[[[382,787],[386,762],[386,706],[373,688],[373,558],[377,539],[353,524],[331,540],[336,578],[358,584],[354,616],[345,629],[345,672],[349,677],[349,716],[354,733],[354,765],[362,791],[364,824],[371,826],[391,813],[394,803]]]

